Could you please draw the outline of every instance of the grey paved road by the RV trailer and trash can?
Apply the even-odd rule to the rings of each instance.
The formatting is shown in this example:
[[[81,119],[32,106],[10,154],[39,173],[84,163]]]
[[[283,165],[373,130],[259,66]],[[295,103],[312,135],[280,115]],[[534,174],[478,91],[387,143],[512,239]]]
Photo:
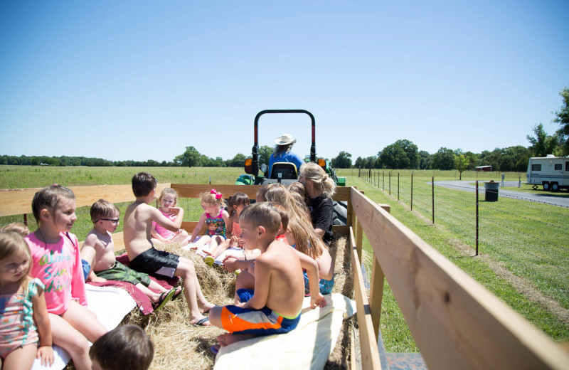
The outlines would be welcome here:
[[[476,186],[472,185],[472,180],[463,180],[463,181],[435,181],[435,185],[437,186],[445,186],[446,188],[450,189],[459,189],[464,191],[471,191],[474,193]],[[429,183],[430,184],[430,181]],[[504,186],[518,186],[518,181],[504,181]],[[479,192],[481,199],[484,200],[484,188],[480,189]],[[563,194],[566,194],[565,191]],[[531,193],[523,193],[521,191],[513,191],[513,190],[503,190],[499,189],[498,197],[504,196],[506,198],[513,198],[513,199],[522,199],[524,201],[535,201],[538,203],[546,203],[552,204],[553,206],[561,206],[561,207],[568,207],[569,208],[569,197],[563,196],[556,196],[555,193],[550,193],[548,191],[543,191],[543,194],[531,194]]]

